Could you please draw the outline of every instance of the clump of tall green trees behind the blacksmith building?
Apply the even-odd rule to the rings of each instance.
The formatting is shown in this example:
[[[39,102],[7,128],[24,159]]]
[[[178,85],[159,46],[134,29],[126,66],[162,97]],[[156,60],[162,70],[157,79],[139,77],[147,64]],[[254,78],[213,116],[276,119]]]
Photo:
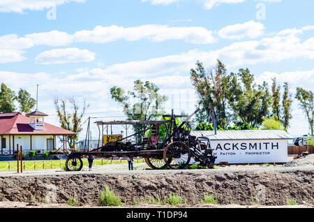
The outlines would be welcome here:
[[[255,83],[254,75],[246,69],[228,74],[225,65],[217,60],[214,68],[205,70],[197,61],[196,68],[190,70],[190,78],[199,96],[198,104],[202,112],[197,115],[197,123],[210,122],[211,116],[217,119],[220,128],[232,126],[252,126],[258,128],[269,117],[290,126],[292,94],[289,84],[284,82],[283,96],[276,78],[269,84]]]

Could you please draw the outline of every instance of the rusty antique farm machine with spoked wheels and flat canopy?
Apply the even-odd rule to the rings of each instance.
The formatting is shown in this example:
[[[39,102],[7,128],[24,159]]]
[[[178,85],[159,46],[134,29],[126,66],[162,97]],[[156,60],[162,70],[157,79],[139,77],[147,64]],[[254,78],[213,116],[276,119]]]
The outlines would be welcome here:
[[[82,158],[89,155],[103,158],[141,157],[153,169],[163,169],[166,165],[172,169],[185,168],[193,158],[200,165],[213,168],[216,156],[212,154],[209,138],[196,138],[190,135],[188,121],[199,110],[195,110],[190,116],[174,115],[172,111],[170,115],[163,115],[163,120],[96,121],[99,135],[103,136],[102,144],[99,145],[99,137],[96,149],[89,150],[89,145],[85,144],[81,151],[64,153],[67,156],[66,169],[82,170]],[[177,124],[176,118],[178,117],[186,117],[186,119],[181,124]],[[104,126],[108,131],[108,126],[112,127],[112,125],[124,126],[126,132],[128,126],[132,125],[141,130],[132,135],[126,135],[126,137],[123,137],[122,134],[112,135],[112,132],[104,135]],[[100,126],[102,133],[100,133]],[[165,130],[163,140],[159,140],[160,126],[163,126]],[[88,135],[89,126],[87,127],[87,138]]]

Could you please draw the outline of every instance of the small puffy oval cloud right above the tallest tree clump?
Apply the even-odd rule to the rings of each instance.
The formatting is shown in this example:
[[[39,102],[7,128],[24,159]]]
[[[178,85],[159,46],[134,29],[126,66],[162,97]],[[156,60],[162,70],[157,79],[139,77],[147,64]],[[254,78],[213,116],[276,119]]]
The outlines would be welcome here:
[[[221,38],[240,39],[257,38],[264,34],[264,24],[260,22],[244,22],[243,24],[232,24],[220,29],[218,35]]]

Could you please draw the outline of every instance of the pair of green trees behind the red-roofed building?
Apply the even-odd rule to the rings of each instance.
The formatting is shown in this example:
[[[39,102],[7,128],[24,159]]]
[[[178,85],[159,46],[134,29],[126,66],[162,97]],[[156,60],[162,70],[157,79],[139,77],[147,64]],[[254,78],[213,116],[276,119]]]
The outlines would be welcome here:
[[[18,109],[16,103],[18,103]],[[36,100],[31,98],[31,94],[25,89],[20,89],[17,94],[15,94],[15,91],[8,88],[6,84],[1,83],[0,112],[15,112],[18,110],[27,113],[35,104]]]

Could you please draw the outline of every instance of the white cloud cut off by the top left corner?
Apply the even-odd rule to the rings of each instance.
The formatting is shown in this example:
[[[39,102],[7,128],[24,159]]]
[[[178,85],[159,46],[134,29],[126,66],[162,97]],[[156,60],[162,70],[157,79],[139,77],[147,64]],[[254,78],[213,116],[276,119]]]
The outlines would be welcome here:
[[[83,3],[85,0],[2,0],[0,1],[0,12],[23,13],[24,10],[43,10],[71,1]]]

